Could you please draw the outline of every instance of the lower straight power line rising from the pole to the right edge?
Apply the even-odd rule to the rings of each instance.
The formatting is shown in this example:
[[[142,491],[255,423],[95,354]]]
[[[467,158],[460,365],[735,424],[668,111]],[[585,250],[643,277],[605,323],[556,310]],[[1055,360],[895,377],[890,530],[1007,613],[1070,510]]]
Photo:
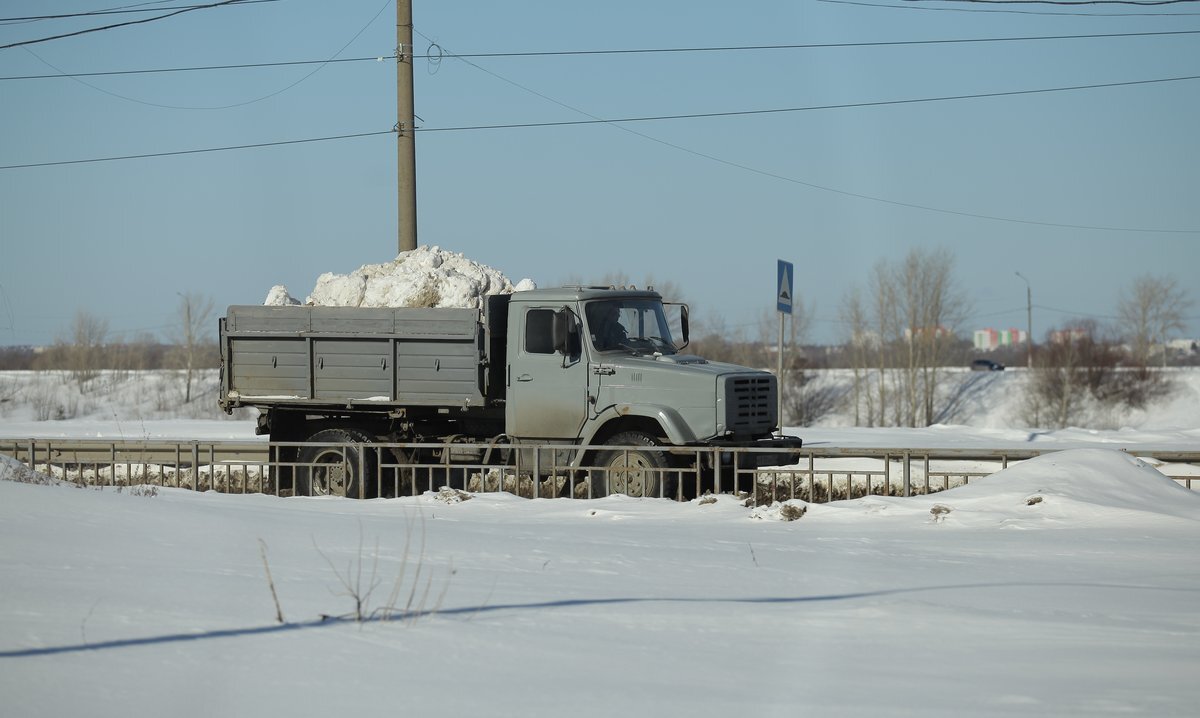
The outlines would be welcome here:
[[[475,131],[475,130],[518,130],[527,127],[568,127],[575,125],[610,125],[618,122],[650,122],[660,120],[691,120],[691,119],[703,119],[703,118],[731,118],[731,116],[746,116],[746,115],[766,115],[766,114],[784,114],[784,113],[796,113],[796,112],[814,112],[824,109],[851,109],[851,108],[863,108],[863,107],[886,107],[894,104],[917,104],[923,102],[953,102],[959,100],[980,100],[985,97],[1015,97],[1019,95],[1038,95],[1049,92],[1068,92],[1076,90],[1096,90],[1102,88],[1122,88],[1133,85],[1146,85],[1156,83],[1171,83],[1171,82],[1184,82],[1200,79],[1200,76],[1184,76],[1184,77],[1166,77],[1158,79],[1140,79],[1140,80],[1128,80],[1118,83],[1096,83],[1090,85],[1068,85],[1062,88],[1042,88],[1037,90],[1009,90],[1003,92],[976,92],[971,95],[944,95],[940,97],[913,97],[908,100],[878,100],[872,102],[847,102],[840,104],[811,104],[805,107],[779,107],[770,109],[745,109],[745,110],[728,110],[728,112],[709,112],[709,113],[689,113],[689,114],[676,114],[676,115],[649,115],[649,116],[630,116],[630,118],[607,118],[607,119],[589,119],[589,120],[560,120],[554,122],[512,122],[505,125],[464,125],[456,127],[418,127],[418,132],[462,132],[462,131]]]

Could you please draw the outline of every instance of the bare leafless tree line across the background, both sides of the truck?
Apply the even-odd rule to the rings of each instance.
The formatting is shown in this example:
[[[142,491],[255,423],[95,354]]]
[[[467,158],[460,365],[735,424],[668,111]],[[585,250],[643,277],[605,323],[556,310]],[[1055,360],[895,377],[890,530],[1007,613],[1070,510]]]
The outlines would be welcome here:
[[[611,275],[606,285],[628,285]],[[667,300],[682,301],[673,282],[656,285]],[[1168,341],[1182,333],[1194,306],[1171,277],[1145,275],[1121,292],[1117,319],[1102,325],[1078,319],[1054,327],[1033,346],[1033,371],[1026,383],[1024,415],[1030,426],[1064,426],[1097,402],[1142,407],[1170,389],[1163,369],[1200,364],[1200,352],[1171,354]],[[810,313],[803,298],[793,298],[793,315],[785,337],[785,423],[809,425],[833,411],[846,411],[859,426],[926,426],[946,414],[954,382],[961,372],[948,367],[970,364],[977,353],[960,336],[972,315],[970,297],[954,275],[947,250],[912,250],[896,261],[881,259],[864,286],[850,287],[841,299],[841,343],[808,345]],[[749,329],[730,330],[721,317],[694,312],[688,352],[714,361],[775,369],[778,325],[763,311]],[[1009,365],[1025,364],[1026,346],[989,353]],[[80,389],[101,371],[176,370],[185,402],[192,400],[196,373],[220,365],[212,300],[198,293],[180,294],[166,341],[152,335],[114,339],[108,323],[79,311],[50,347],[0,347],[0,370],[68,372]],[[848,390],[817,387],[814,370],[848,369]]]

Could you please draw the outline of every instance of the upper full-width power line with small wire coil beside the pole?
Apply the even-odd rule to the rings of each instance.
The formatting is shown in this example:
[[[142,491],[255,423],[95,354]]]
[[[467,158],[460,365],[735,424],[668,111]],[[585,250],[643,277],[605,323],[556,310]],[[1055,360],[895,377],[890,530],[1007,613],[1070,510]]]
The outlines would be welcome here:
[[[266,1],[266,0],[254,0]],[[277,1],[277,0],[270,0]],[[883,6],[893,7],[893,6]],[[1013,37],[968,37],[949,40],[908,40],[908,41],[882,41],[882,42],[823,42],[805,44],[748,44],[748,46],[722,46],[722,47],[676,47],[676,48],[635,48],[635,49],[602,49],[602,50],[548,50],[548,52],[511,52],[511,53],[467,53],[467,54],[425,54],[414,55],[415,59],[440,60],[444,58],[468,59],[468,58],[551,58],[551,56],[580,56],[580,55],[623,55],[623,54],[670,54],[670,53],[720,53],[720,52],[756,52],[756,50],[785,50],[785,49],[830,49],[830,48],[859,48],[859,47],[905,47],[920,44],[970,44],[970,43],[996,43],[996,42],[1032,42],[1050,40],[1108,40],[1122,37],[1159,37],[1171,35],[1200,35],[1200,30],[1164,30],[1157,32],[1098,32],[1091,35],[1037,35],[1037,36],[1013,36]],[[396,55],[373,55],[368,58],[344,58],[336,60],[293,60],[282,62],[244,62],[236,65],[200,65],[193,67],[157,67],[149,70],[112,70],[96,72],[60,72],[55,74],[25,74],[0,77],[0,80],[18,79],[58,79],[70,77],[109,77],[122,74],[152,74],[166,72],[197,72],[211,70],[246,70],[253,67],[286,67],[293,65],[319,65],[324,62],[366,62],[395,60]],[[476,66],[478,67],[478,66]]]

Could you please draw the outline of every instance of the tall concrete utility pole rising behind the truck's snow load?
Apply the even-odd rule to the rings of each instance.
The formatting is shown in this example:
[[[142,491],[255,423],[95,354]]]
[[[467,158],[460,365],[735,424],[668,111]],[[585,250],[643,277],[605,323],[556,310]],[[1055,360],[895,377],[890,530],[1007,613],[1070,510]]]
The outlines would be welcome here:
[[[416,249],[416,113],[413,0],[396,0],[396,186],[400,251]]]

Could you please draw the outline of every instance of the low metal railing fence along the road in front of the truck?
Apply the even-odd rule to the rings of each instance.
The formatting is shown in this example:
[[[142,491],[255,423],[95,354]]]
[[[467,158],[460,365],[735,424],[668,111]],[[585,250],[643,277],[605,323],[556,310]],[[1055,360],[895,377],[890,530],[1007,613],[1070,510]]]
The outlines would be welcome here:
[[[331,493],[373,498],[414,496],[443,486],[506,491],[529,498],[593,498],[620,493],[689,498],[740,491],[754,504],[802,499],[823,503],[868,495],[934,493],[1009,465],[1062,449],[805,448],[790,466],[751,468],[752,454],[772,449],[564,447],[480,443],[322,444],[320,462],[299,442],[0,439],[0,454],[37,474],[88,486],[172,486],[196,491],[288,496],[296,481],[329,479]],[[570,467],[569,455],[607,451],[661,456],[614,469],[596,461]],[[564,456],[564,453],[566,456]],[[1192,489],[1200,451],[1127,450]],[[332,459],[331,459],[332,457]],[[564,460],[564,457],[566,460]],[[700,467],[700,468],[697,468]],[[355,480],[347,480],[355,477]],[[361,477],[365,480],[356,480]],[[340,487],[341,490],[337,490]],[[313,491],[322,493],[326,491]]]

